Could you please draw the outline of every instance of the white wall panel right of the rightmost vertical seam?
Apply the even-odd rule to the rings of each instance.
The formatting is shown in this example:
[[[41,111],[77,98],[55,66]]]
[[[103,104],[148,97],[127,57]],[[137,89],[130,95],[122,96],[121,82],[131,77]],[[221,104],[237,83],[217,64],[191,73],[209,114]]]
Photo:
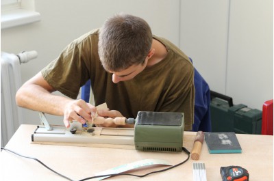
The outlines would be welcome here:
[[[233,0],[230,6],[226,93],[262,109],[273,98],[273,0]]]

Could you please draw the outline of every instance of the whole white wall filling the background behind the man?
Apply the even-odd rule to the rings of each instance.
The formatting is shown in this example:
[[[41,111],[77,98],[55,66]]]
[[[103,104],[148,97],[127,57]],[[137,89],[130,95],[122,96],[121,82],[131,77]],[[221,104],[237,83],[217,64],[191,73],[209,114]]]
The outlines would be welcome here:
[[[216,92],[235,104],[262,109],[273,98],[273,1],[271,0],[36,0],[38,23],[1,30],[1,51],[38,51],[22,64],[23,82],[58,56],[75,38],[116,12],[145,18],[153,33],[168,38],[192,57]],[[24,109],[25,124],[38,124]],[[49,116],[62,124],[62,117]]]

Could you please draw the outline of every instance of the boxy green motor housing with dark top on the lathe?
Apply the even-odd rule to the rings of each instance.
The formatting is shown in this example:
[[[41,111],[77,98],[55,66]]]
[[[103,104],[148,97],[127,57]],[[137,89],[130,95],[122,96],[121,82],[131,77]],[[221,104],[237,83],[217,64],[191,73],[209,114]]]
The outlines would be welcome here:
[[[184,113],[139,111],[135,121],[136,150],[182,152]]]

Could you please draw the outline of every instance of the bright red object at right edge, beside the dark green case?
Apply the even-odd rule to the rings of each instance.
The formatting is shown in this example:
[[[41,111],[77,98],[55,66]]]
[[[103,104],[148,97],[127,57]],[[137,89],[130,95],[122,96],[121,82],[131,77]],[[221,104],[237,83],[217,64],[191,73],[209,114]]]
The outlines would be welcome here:
[[[262,105],[262,135],[273,135],[273,99]]]

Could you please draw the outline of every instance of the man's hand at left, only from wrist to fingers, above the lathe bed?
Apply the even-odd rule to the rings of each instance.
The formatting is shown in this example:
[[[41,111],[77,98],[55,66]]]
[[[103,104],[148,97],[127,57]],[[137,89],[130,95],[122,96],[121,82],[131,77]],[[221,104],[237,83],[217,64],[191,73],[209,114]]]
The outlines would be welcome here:
[[[64,125],[69,128],[70,122],[76,120],[82,124],[92,122],[97,109],[82,99],[71,100],[64,107]]]

